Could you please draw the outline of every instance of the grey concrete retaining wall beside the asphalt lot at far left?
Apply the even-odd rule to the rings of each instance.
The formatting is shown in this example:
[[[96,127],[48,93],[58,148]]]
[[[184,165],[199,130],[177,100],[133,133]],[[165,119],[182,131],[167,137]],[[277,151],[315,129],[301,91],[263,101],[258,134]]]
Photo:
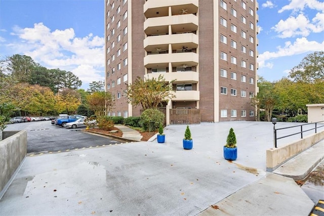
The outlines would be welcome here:
[[[0,141],[0,195],[27,154],[26,130],[4,131],[3,137]]]

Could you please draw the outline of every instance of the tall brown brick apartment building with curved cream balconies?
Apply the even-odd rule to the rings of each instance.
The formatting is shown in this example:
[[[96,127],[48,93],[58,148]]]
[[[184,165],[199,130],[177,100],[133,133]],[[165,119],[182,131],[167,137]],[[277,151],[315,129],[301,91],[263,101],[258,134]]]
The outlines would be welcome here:
[[[174,123],[172,113],[187,109],[197,109],[201,122],[255,120],[256,0],[105,1],[110,116],[139,116],[141,107],[127,102],[126,84],[162,74],[176,80],[176,97],[163,105],[167,124]]]

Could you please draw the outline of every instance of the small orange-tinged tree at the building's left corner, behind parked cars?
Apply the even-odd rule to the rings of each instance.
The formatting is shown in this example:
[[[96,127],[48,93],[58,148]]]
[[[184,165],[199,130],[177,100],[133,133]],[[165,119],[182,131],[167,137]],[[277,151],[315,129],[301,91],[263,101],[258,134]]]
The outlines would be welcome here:
[[[89,108],[95,112],[95,115],[105,116],[112,109],[114,103],[110,92],[94,92],[87,96]]]

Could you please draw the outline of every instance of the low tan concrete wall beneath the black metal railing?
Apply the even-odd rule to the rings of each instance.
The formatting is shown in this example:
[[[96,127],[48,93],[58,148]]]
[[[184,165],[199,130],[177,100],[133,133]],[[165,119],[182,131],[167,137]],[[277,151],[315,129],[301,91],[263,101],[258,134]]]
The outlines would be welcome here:
[[[266,167],[267,171],[272,172],[281,164],[289,159],[302,153],[306,149],[312,147],[320,140],[324,139],[324,131],[306,136],[303,139],[289,143],[287,146],[266,151]]]

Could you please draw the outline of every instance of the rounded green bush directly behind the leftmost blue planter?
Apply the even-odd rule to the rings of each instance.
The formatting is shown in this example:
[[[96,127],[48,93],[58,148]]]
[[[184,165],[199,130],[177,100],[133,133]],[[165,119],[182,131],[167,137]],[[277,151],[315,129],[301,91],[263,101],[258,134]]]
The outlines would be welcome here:
[[[145,131],[156,131],[160,123],[163,123],[164,113],[156,109],[145,110],[140,117],[140,125]]]

